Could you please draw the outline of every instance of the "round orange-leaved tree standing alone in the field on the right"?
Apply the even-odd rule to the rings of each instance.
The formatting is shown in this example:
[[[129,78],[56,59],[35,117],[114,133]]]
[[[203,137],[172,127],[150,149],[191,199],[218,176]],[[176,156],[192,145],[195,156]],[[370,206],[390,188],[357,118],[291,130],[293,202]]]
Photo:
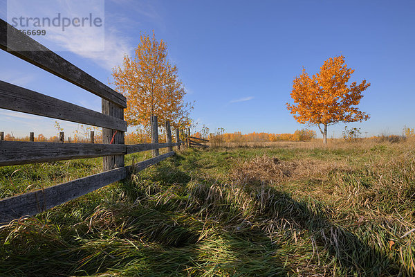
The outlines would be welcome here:
[[[286,103],[299,123],[317,125],[327,143],[327,125],[356,122],[369,119],[356,105],[362,99],[362,91],[370,86],[363,80],[360,84],[349,82],[353,69],[344,64],[344,56],[326,60],[320,72],[311,78],[303,68],[302,74],[293,81],[291,97],[294,104]],[[322,125],[322,127],[320,127]]]

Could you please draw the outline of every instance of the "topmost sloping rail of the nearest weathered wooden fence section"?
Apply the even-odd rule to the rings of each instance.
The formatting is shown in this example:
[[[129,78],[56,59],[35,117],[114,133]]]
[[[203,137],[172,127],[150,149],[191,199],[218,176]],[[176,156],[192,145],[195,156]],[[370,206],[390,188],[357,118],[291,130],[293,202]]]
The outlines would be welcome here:
[[[22,48],[24,47],[24,48]],[[127,107],[127,99],[0,19],[0,48],[97,96]],[[27,51],[30,49],[30,51]]]

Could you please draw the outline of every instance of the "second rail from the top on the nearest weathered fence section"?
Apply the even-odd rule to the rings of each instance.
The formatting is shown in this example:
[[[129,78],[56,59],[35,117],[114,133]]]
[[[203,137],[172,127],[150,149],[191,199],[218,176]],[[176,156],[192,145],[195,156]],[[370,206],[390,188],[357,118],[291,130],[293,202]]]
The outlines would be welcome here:
[[[107,116],[8,82],[0,81],[0,98],[2,109],[127,131],[127,123],[123,119]]]

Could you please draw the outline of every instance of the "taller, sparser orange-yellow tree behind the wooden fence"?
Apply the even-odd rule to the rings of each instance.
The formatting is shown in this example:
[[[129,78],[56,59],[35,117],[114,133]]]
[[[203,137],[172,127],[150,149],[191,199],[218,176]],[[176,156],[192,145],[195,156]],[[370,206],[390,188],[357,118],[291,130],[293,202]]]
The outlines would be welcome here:
[[[135,57],[124,56],[122,66],[113,68],[113,84],[127,98],[124,118],[130,126],[149,129],[150,116],[158,124],[170,121],[172,128],[191,124],[192,105],[183,100],[185,89],[176,65],[167,60],[167,45],[156,36],[140,36]]]

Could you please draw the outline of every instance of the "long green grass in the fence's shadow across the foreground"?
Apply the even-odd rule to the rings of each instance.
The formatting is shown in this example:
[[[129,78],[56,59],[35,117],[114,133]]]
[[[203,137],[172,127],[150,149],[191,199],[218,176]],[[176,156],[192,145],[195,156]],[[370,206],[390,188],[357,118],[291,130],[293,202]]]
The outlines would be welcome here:
[[[284,262],[282,240],[301,231],[337,260],[342,276],[398,276],[399,265],[332,224],[318,204],[259,180],[195,184],[176,162],[125,181],[123,201],[72,226],[33,221],[0,230],[0,275],[287,276],[297,260]]]

